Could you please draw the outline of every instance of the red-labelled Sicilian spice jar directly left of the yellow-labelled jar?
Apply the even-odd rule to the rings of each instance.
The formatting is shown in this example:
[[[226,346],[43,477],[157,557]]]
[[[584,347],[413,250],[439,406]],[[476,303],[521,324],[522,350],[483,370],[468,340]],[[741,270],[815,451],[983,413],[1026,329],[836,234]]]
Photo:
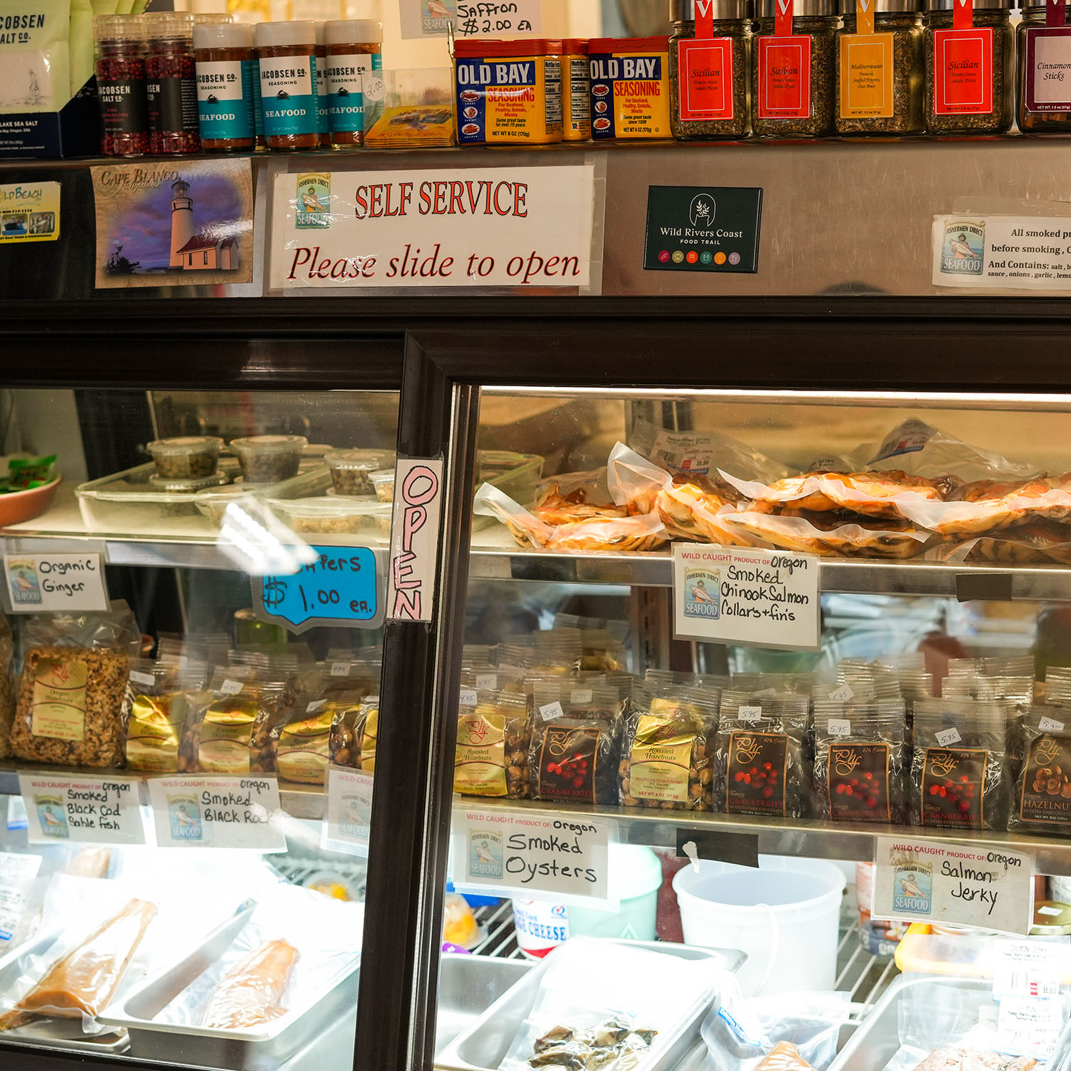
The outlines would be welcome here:
[[[833,132],[834,0],[758,0],[751,71],[752,129],[759,137],[826,137]],[[774,17],[775,16],[775,17]]]

